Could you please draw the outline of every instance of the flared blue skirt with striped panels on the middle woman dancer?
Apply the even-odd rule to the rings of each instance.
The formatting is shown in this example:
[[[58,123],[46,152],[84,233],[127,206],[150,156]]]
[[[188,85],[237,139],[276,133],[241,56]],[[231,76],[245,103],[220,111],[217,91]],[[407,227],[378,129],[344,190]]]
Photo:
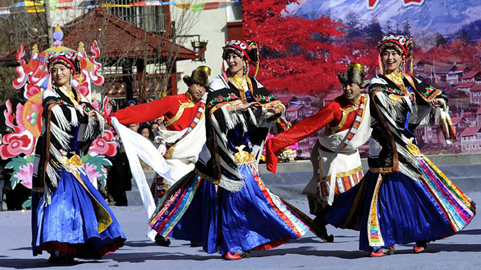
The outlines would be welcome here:
[[[265,187],[254,163],[240,164],[240,173],[245,185],[238,192],[216,192],[213,183],[195,174],[181,179],[162,200],[150,227],[164,236],[172,227],[174,238],[200,241],[208,254],[216,253],[218,245],[221,254],[270,249],[309,230]]]

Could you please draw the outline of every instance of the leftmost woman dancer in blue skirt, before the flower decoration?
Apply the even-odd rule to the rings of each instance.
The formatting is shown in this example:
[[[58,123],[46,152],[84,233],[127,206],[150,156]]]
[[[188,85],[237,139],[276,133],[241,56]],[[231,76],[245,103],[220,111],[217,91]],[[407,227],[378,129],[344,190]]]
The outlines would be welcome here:
[[[32,249],[49,262],[102,258],[124,245],[118,221],[82,167],[104,118],[71,86],[80,73],[74,52],[58,52],[47,63],[52,88],[43,92],[43,129],[35,149],[32,187]]]

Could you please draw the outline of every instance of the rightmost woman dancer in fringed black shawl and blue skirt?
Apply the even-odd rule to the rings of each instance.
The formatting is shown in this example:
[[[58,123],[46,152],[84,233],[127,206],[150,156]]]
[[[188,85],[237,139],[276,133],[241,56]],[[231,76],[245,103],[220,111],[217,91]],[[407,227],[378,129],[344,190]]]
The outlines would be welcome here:
[[[394,253],[394,245],[416,243],[414,253],[432,240],[463,229],[476,214],[475,203],[449,181],[416,144],[416,126],[440,115],[447,143],[456,134],[447,114],[447,96],[405,74],[412,61],[409,36],[379,41],[381,74],[371,80],[369,172],[339,195],[324,216],[336,227],[360,230],[359,249],[370,256]],[[412,72],[412,71],[411,71]]]

